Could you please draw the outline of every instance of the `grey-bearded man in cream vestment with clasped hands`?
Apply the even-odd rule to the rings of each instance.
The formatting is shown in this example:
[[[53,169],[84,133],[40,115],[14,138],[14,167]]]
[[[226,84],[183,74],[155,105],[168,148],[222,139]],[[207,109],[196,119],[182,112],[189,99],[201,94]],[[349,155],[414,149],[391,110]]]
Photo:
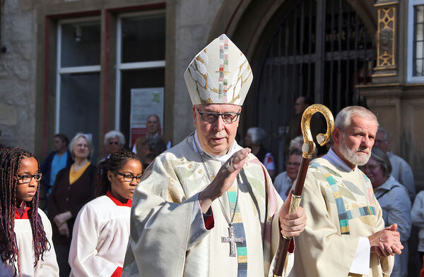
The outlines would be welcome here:
[[[349,106],[336,116],[334,147],[311,161],[301,206],[305,231],[296,238],[291,277],[389,276],[403,246],[396,224],[384,228],[370,180],[358,168],[370,158],[374,113]]]

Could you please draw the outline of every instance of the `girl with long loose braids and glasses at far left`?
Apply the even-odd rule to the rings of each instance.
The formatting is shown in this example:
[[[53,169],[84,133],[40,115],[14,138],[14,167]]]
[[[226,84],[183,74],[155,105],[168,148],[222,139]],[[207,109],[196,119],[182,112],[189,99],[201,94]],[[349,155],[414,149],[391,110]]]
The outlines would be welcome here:
[[[0,149],[0,276],[59,276],[52,226],[38,209],[40,166],[23,149]]]

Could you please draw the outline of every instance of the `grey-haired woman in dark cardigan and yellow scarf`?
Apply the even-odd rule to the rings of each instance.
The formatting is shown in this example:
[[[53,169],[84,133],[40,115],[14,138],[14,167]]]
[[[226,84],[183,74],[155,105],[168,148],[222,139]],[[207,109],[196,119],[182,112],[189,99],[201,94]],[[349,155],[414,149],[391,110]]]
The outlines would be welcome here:
[[[57,173],[47,203],[60,276],[69,276],[71,271],[68,255],[73,223],[83,205],[94,198],[96,176],[96,168],[90,164],[94,151],[90,137],[83,133],[76,134],[69,149],[74,162]]]

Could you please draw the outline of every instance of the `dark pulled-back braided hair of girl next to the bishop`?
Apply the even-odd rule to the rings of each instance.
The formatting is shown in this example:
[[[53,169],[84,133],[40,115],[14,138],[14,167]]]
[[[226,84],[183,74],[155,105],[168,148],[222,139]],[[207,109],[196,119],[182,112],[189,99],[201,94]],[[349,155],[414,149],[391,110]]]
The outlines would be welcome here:
[[[105,195],[108,190],[111,190],[110,180],[107,178],[107,171],[119,171],[129,159],[140,161],[139,156],[137,156],[134,152],[122,149],[114,154],[110,154],[109,158],[99,165],[97,189],[95,191],[96,197]]]

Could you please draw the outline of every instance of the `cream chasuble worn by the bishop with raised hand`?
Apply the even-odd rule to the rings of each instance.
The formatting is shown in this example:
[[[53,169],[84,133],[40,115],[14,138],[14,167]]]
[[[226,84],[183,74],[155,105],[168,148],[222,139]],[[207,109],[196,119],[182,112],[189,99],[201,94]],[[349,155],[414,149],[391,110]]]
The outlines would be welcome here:
[[[208,155],[204,161],[214,178],[222,162]],[[240,176],[238,205],[247,242],[247,276],[272,276],[270,261],[278,247],[278,212],[283,201],[253,154]],[[194,213],[194,205],[199,205],[198,192],[208,183],[199,154],[194,152],[193,136],[155,159],[134,194],[122,276],[237,276],[237,257],[229,257],[229,243],[221,242],[228,237],[228,223],[218,199],[211,206],[213,228],[194,226],[204,226],[201,210]],[[221,201],[230,215],[227,194]],[[291,268],[293,254],[288,257]]]

